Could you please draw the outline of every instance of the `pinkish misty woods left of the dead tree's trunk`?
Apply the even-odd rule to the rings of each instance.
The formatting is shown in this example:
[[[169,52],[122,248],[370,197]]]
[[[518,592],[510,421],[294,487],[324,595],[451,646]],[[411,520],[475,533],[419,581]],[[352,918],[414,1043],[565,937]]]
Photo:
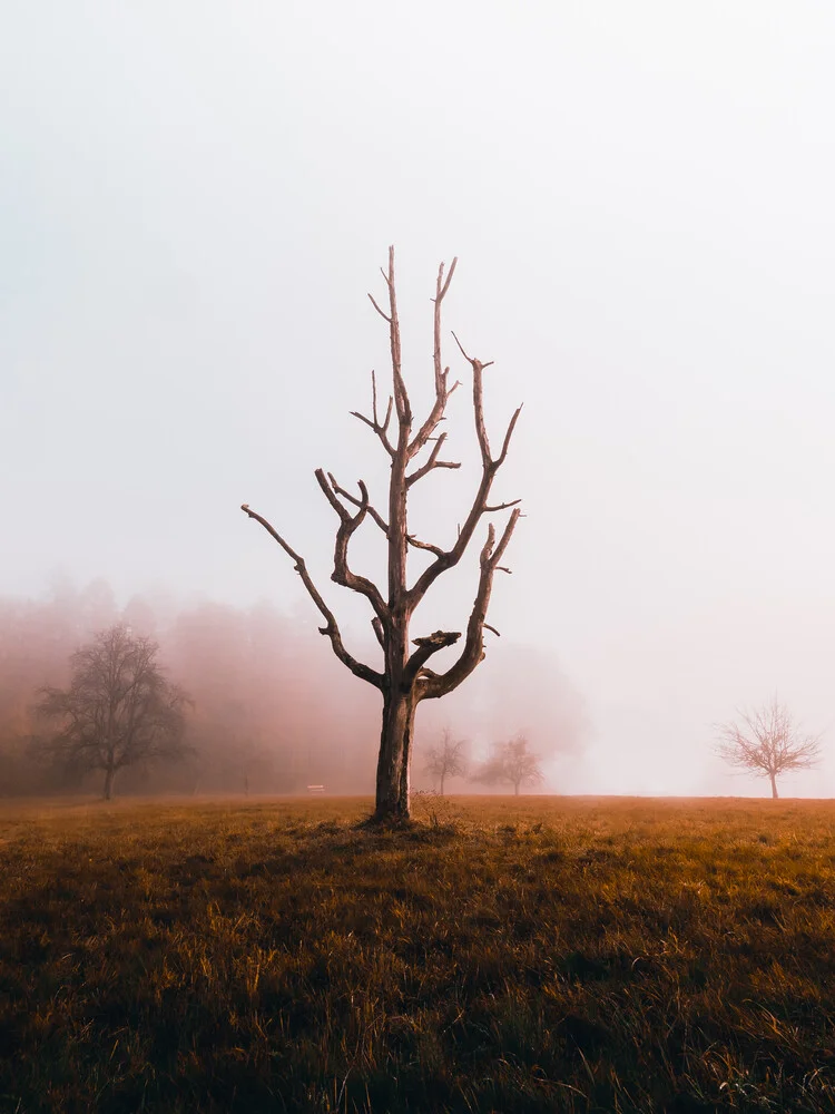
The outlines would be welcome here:
[[[157,723],[153,739],[122,740],[108,756],[112,740],[94,739],[78,707],[95,677],[78,670],[117,628],[145,654],[143,706],[156,702]],[[363,792],[372,702],[323,657],[315,633],[267,605],[178,608],[160,596],[118,608],[102,582],[0,599],[0,795],[98,792],[108,769],[118,793],[295,793],[311,782]]]

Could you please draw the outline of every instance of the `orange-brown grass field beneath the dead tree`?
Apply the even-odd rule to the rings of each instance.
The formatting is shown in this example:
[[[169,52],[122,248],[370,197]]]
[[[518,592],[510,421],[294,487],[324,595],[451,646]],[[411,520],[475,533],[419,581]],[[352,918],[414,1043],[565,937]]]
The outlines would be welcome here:
[[[0,805],[0,1112],[835,1111],[835,804]]]

